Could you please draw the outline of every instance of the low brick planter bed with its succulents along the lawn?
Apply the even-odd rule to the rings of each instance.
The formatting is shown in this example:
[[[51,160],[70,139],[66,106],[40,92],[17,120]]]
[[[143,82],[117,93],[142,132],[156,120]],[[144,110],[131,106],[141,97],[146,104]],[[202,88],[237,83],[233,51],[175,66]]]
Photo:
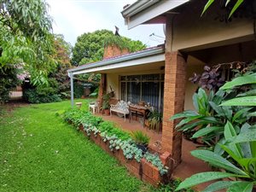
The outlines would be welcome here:
[[[92,116],[91,113],[81,113],[73,110],[64,114],[68,122],[77,126],[78,130],[84,133],[85,137],[104,149],[108,154],[115,157],[124,165],[131,174],[144,182],[158,186],[167,178],[168,167],[166,162],[168,154],[143,154],[129,139],[126,132],[109,127],[108,123],[101,118]],[[87,116],[87,118],[86,118]],[[107,131],[102,130],[104,125]],[[102,128],[103,127],[103,128]]]

